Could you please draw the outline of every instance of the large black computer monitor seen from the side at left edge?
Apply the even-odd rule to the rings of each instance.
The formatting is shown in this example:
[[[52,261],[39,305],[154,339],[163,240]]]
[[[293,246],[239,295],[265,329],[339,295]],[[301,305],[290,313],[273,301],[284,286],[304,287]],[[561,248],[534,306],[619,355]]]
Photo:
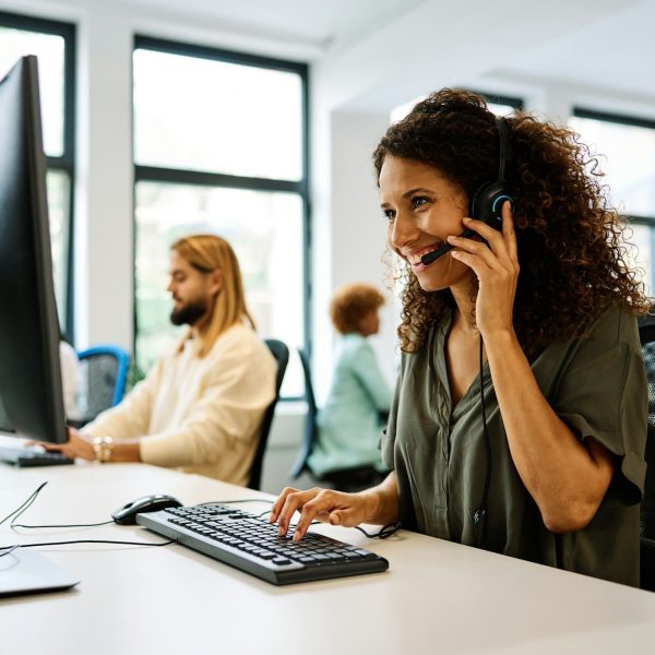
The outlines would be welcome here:
[[[28,56],[0,81],[0,397],[17,437],[67,441],[59,338],[38,69]]]

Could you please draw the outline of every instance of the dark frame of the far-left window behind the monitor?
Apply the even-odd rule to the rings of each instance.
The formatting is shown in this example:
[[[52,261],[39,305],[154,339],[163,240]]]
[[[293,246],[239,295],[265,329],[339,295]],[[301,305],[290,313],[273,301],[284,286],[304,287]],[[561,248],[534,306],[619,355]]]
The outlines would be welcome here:
[[[75,231],[75,100],[76,100],[76,26],[52,19],[44,19],[0,11],[0,26],[23,32],[50,34],[63,39],[63,144],[60,156],[46,155],[47,170],[67,175],[70,184],[68,193],[68,243],[66,261],[64,330],[68,338],[75,338],[75,295],[74,295],[74,231]]]

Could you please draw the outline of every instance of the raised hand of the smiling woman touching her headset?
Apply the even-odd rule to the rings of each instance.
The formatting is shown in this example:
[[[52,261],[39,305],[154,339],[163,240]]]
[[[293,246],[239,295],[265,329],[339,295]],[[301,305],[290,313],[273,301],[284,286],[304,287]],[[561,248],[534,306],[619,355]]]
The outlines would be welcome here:
[[[479,290],[475,313],[478,330],[485,340],[499,333],[513,334],[519,255],[511,203],[505,201],[502,206],[502,231],[474,218],[464,218],[464,225],[487,241],[448,238],[455,247],[451,257],[471,266],[477,275]]]

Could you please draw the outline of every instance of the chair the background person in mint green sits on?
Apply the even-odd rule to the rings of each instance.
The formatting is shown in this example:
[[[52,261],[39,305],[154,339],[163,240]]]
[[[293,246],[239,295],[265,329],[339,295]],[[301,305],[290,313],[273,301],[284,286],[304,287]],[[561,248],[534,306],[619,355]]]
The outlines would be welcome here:
[[[320,432],[317,426],[317,402],[311,382],[311,370],[309,358],[305,350],[298,350],[302,372],[305,374],[305,402],[307,403],[307,419],[305,421],[305,437],[300,453],[296,464],[291,468],[289,479],[295,480],[303,473],[308,473],[312,478],[322,484],[327,484],[340,491],[360,491],[373,485],[380,484],[385,473],[380,473],[373,466],[356,466],[353,468],[343,468],[330,471],[321,476],[317,475],[309,466],[309,455],[317,440],[320,439]]]

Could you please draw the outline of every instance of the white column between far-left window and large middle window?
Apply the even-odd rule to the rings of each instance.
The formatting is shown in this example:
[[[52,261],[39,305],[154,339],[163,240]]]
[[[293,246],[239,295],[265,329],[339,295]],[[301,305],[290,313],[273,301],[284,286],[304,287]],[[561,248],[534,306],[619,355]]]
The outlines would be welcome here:
[[[79,346],[132,345],[132,29],[93,4],[80,24],[76,179]]]

